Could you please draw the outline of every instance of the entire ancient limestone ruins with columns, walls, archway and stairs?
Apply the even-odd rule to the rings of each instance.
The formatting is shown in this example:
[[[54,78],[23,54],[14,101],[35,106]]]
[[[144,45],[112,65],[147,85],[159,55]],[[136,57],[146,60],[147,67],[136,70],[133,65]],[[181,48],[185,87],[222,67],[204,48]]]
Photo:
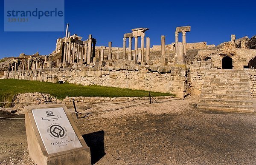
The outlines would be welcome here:
[[[3,58],[0,77],[142,89],[180,98],[201,95],[198,107],[253,111],[251,106],[244,106],[251,103],[241,101],[256,97],[256,36],[236,39],[232,34],[230,41],[218,46],[186,43],[191,27],[181,26],[175,29],[175,43],[166,44],[165,36],[161,36],[161,45],[150,47],[150,38],[146,37],[149,28],[134,28],[120,37],[123,47],[118,48],[112,47],[112,42],[96,46],[91,34],[82,40],[77,34],[70,35],[68,28],[69,24],[65,37],[57,39],[49,55],[37,52]],[[207,85],[212,89],[206,90]],[[221,101],[225,106],[217,106]]]

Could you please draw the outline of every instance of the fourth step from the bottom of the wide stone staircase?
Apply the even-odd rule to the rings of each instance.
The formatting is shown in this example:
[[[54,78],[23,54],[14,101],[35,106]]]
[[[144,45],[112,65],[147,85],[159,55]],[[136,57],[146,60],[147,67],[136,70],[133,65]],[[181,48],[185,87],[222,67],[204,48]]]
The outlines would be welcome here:
[[[212,89],[202,89],[202,94],[235,94],[235,95],[249,95],[250,91],[235,91],[235,90],[212,90]]]

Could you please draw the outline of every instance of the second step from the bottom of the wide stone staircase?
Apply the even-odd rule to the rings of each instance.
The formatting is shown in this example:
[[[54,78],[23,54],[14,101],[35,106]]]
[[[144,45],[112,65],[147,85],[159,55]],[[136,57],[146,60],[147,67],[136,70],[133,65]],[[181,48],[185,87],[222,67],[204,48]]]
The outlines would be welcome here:
[[[253,105],[252,101],[224,100],[224,99],[201,99],[200,103],[204,103],[204,104],[220,104],[220,105]]]

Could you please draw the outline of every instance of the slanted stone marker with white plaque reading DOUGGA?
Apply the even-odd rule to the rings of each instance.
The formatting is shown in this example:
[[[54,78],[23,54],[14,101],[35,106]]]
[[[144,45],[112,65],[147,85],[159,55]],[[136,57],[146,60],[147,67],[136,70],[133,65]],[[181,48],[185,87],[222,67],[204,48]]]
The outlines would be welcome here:
[[[91,164],[84,142],[65,105],[27,106],[29,155],[40,165]]]

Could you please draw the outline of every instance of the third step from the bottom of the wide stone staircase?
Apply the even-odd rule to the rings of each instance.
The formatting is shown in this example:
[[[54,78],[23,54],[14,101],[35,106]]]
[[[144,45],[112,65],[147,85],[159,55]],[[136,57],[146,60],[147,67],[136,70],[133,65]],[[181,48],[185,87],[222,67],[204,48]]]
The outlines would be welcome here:
[[[201,94],[201,99],[250,100],[251,98],[250,95]]]

